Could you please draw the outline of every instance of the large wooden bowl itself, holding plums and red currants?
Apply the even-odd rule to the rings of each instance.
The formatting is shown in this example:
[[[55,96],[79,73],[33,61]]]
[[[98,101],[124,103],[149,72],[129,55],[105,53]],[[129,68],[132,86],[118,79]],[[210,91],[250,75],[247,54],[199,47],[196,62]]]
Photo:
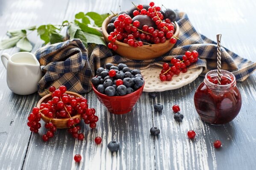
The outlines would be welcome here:
[[[108,40],[109,34],[107,33],[107,26],[109,24],[109,21],[112,17],[115,15],[111,15],[107,17],[103,23],[102,23],[102,32],[103,37],[107,43],[110,41]],[[174,31],[174,36],[179,37],[179,25],[175,23],[176,29]],[[115,44],[118,46],[118,49],[115,51],[117,54],[120,54],[123,57],[129,58],[129,59],[138,59],[138,60],[145,60],[145,59],[153,59],[156,57],[160,57],[163,54],[167,53],[171,48],[173,48],[174,44],[171,44],[169,40],[167,40],[164,43],[159,44],[152,44],[150,45],[143,45],[142,47],[131,47],[126,43],[115,41]]]

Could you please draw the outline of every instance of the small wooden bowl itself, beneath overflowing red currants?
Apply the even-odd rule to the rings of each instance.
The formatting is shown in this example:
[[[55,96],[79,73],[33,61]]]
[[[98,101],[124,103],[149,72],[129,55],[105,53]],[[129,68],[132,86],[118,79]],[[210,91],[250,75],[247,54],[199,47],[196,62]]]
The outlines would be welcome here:
[[[75,97],[82,97],[80,94],[71,92],[71,91],[66,91],[66,94],[71,94]],[[36,107],[40,108],[41,103],[47,103],[50,99],[52,98],[52,94],[47,94],[46,96],[42,97],[39,102],[37,103]],[[41,113],[41,119],[43,119],[44,122],[49,123],[50,122],[50,118],[45,116],[43,113]],[[72,119],[75,118],[79,118],[81,119],[81,115],[77,114],[75,116],[71,117]],[[67,124],[68,124],[68,119],[70,118],[65,118],[65,119],[56,119],[56,118],[52,118],[51,122],[53,123],[53,125],[56,126],[57,129],[66,129],[68,128]]]

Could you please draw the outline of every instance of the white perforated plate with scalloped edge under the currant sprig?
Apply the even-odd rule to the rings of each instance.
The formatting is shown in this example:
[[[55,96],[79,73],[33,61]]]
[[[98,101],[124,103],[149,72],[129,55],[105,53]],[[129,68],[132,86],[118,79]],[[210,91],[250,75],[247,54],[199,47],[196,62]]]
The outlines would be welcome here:
[[[187,85],[193,82],[199,74],[202,73],[203,68],[194,68],[188,69],[186,73],[180,73],[179,75],[174,75],[171,81],[162,82],[159,79],[159,74],[161,72],[159,67],[150,67],[141,70],[141,74],[145,79],[145,85],[143,91],[153,92],[153,91],[167,91],[173,90],[176,88],[181,88],[184,85]]]

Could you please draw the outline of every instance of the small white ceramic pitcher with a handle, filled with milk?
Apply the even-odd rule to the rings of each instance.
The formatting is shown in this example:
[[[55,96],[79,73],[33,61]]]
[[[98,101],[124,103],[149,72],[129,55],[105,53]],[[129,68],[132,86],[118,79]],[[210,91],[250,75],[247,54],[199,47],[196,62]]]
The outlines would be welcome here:
[[[5,53],[1,60],[7,70],[7,85],[13,93],[28,95],[37,91],[42,70],[34,54],[18,52],[10,56]]]

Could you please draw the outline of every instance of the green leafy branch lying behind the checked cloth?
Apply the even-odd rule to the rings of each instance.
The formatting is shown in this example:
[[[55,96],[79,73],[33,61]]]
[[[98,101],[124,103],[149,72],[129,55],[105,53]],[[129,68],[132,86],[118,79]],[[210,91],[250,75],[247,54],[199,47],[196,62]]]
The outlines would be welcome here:
[[[31,26],[19,30],[9,30],[7,31],[7,35],[9,35],[10,38],[0,42],[0,50],[16,46],[20,48],[21,51],[31,51],[32,44],[27,36],[33,31],[37,31],[41,40],[44,40],[44,45],[49,42],[54,44],[72,38],[82,40],[85,47],[87,47],[88,43],[106,45],[102,34],[96,29],[102,25],[106,17],[108,17],[108,14],[100,15],[96,12],[84,14],[83,12],[79,12],[75,15],[74,21],[69,22],[65,20],[62,22],[62,25],[47,24],[38,27]],[[65,37],[60,34],[63,29],[67,29]]]

